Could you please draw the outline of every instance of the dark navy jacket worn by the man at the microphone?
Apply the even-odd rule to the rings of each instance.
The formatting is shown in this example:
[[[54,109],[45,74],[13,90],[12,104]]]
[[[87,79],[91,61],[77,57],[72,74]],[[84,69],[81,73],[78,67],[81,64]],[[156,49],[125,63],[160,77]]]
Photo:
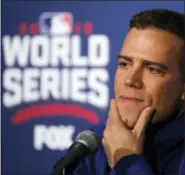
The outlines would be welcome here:
[[[174,119],[147,128],[144,154],[122,157],[110,169],[103,145],[93,155],[88,155],[73,171],[73,174],[115,174],[115,175],[185,175],[184,112]],[[93,127],[102,139],[105,125]]]

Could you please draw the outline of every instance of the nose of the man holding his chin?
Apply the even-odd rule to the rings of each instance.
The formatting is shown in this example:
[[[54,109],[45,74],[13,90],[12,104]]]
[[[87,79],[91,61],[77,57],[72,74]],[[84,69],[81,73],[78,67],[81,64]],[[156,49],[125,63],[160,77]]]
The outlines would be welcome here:
[[[128,72],[124,81],[125,86],[141,89],[143,87],[143,75],[139,69],[133,69]]]

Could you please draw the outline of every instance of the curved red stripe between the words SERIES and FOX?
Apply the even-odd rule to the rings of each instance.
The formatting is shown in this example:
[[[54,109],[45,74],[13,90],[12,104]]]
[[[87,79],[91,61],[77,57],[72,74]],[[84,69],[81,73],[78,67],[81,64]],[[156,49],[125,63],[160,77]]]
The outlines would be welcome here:
[[[94,112],[73,104],[45,104],[31,106],[18,111],[12,117],[12,122],[14,124],[21,124],[31,119],[51,116],[72,116],[79,119],[85,119],[93,124],[99,122],[99,117]]]

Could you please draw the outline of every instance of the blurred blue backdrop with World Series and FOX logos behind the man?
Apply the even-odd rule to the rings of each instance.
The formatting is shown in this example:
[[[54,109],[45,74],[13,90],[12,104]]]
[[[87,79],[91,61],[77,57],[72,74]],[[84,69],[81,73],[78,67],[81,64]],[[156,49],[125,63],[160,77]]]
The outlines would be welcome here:
[[[2,174],[49,174],[77,133],[105,122],[135,13],[184,1],[2,3]]]

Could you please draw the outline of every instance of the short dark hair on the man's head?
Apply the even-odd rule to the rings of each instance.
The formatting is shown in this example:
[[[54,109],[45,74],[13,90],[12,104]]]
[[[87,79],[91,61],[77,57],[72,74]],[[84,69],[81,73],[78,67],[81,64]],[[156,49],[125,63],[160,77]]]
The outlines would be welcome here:
[[[130,29],[156,28],[168,31],[184,40],[184,14],[168,9],[149,9],[135,14],[130,20]],[[183,48],[184,51],[184,48]],[[183,58],[182,58],[183,57]],[[185,58],[180,58],[180,67],[185,81]]]

